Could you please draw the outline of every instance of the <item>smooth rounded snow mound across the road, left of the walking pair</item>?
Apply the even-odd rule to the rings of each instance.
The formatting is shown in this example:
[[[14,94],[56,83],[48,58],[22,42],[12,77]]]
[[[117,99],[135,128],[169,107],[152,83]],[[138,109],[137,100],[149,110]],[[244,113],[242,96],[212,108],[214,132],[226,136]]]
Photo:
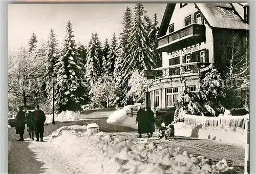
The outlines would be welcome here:
[[[120,110],[113,112],[106,122],[111,124],[122,124],[122,122],[127,118],[127,111],[131,111],[131,108],[133,108],[133,111],[137,111],[138,106],[142,105],[135,104],[124,106]]]

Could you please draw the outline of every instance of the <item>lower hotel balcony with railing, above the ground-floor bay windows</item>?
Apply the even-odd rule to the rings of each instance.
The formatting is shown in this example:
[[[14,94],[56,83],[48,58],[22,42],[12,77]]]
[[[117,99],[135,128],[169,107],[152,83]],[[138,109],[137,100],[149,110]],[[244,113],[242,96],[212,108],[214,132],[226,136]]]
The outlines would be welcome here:
[[[190,62],[175,64],[166,68],[157,68],[155,70],[144,70],[144,76],[147,79],[164,80],[174,79],[186,76],[202,76],[209,70],[209,64],[205,62]]]

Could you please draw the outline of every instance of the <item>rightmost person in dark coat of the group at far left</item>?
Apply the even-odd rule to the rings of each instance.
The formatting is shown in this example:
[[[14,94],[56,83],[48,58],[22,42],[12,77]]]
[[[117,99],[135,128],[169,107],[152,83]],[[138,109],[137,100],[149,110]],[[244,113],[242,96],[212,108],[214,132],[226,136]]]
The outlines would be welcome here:
[[[36,105],[36,110],[32,113],[31,118],[32,123],[34,124],[36,141],[44,141],[44,123],[46,121],[46,115],[43,111],[39,110],[39,105]]]

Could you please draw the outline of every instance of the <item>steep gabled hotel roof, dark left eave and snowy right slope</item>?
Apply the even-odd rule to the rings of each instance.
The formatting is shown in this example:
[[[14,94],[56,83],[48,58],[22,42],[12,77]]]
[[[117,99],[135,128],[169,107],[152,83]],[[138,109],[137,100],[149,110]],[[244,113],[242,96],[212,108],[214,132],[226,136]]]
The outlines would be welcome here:
[[[195,6],[202,13],[210,28],[249,30],[249,25],[244,23],[244,19],[231,3],[196,3]],[[157,38],[166,34],[175,7],[176,4],[167,4]],[[154,49],[156,46],[155,41]]]

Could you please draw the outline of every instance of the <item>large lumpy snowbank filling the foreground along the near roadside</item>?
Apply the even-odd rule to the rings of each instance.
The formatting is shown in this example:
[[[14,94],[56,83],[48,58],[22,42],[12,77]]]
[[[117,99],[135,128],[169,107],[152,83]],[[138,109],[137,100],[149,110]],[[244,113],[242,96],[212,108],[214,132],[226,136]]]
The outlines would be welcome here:
[[[44,173],[219,173],[236,170],[228,166],[225,159],[214,163],[180,148],[114,138],[103,132],[89,136],[87,126],[62,126],[45,140],[41,143],[26,139]]]

